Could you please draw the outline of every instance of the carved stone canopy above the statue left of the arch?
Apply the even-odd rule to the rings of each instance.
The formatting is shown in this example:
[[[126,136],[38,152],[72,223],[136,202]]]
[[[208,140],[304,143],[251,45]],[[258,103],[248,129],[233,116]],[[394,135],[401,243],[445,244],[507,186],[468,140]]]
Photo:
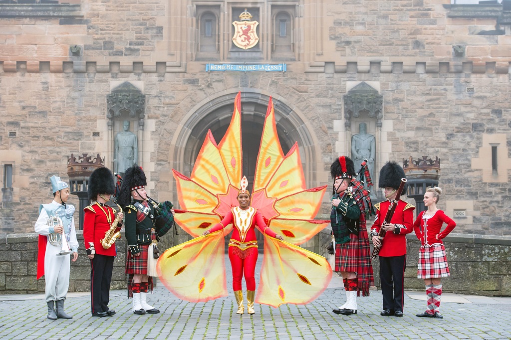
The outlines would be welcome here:
[[[136,88],[129,82],[124,82],[114,88],[110,94],[106,96],[107,113],[109,119],[108,125],[113,125],[112,119],[121,117],[123,112],[127,112],[130,117],[138,119],[138,126],[144,127],[144,115],[146,96],[141,90]]]

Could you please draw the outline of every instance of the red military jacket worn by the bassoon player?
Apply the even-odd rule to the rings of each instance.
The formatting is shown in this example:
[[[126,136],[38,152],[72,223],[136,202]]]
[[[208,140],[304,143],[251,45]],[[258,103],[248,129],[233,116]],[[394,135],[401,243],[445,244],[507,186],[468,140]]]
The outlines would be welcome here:
[[[371,227],[371,238],[378,235],[381,225],[385,221],[390,201],[375,204],[375,223]],[[413,231],[413,210],[415,207],[410,203],[399,200],[396,211],[392,215],[390,223],[396,225],[396,230],[387,231],[383,237],[382,248],[378,255],[383,257],[402,256],[406,254],[406,234]]]

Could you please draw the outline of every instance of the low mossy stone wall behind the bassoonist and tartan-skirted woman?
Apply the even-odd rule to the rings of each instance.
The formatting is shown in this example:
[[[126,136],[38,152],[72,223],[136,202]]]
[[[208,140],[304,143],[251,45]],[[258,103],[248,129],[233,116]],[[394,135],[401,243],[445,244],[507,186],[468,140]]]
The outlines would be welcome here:
[[[405,289],[424,290],[417,279],[420,242],[407,235]],[[446,293],[511,296],[511,237],[450,234],[444,240],[451,276],[442,278]],[[373,262],[375,285],[380,286],[379,261]]]

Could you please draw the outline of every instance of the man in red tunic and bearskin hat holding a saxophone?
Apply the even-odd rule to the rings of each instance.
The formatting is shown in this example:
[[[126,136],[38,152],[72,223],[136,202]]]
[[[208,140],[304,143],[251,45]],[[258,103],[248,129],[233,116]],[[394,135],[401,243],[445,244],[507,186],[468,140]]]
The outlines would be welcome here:
[[[83,239],[85,251],[90,260],[90,299],[93,317],[111,317],[115,310],[108,308],[110,300],[110,281],[112,280],[113,259],[117,252],[115,244],[105,249],[101,239],[105,237],[115,220],[115,209],[106,205],[113,195],[113,175],[106,167],[96,169],[89,178],[87,194],[89,200],[95,201],[84,208]],[[117,231],[122,226],[122,211]]]

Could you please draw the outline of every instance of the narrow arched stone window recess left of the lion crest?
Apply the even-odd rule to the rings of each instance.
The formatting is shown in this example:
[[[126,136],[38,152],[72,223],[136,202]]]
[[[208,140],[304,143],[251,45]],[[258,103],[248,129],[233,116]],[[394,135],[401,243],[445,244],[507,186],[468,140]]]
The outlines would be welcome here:
[[[196,60],[220,59],[220,6],[197,6]]]

